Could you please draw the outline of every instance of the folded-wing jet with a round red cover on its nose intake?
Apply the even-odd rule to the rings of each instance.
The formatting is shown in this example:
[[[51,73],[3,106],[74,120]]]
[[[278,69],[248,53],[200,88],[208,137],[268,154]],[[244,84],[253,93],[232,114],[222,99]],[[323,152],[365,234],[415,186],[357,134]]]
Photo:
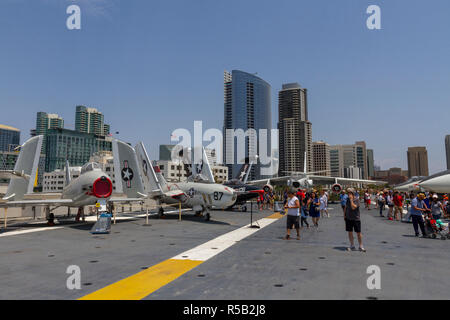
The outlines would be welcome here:
[[[52,223],[54,216],[50,207],[54,207],[54,209],[76,207],[78,208],[78,217],[80,215],[84,217],[84,206],[87,205],[100,203],[101,207],[106,210],[107,202],[130,202],[145,199],[146,195],[141,180],[133,179],[133,172],[139,170],[134,149],[118,140],[112,142],[116,193],[124,194],[125,197],[111,197],[113,193],[111,178],[101,170],[98,163],[86,163],[81,168],[80,176],[71,180],[69,163],[66,161],[66,185],[63,187],[61,197],[59,199],[31,199],[36,182],[35,177],[37,177],[42,140],[42,135],[36,136],[23,144],[14,170],[6,172],[11,180],[6,195],[3,197],[5,202],[2,202],[0,206],[5,208],[44,206],[47,219]]]

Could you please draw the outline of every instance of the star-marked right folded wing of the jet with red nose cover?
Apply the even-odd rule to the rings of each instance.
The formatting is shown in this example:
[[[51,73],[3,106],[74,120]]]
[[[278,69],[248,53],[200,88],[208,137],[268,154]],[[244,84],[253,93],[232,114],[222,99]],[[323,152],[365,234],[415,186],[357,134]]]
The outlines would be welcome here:
[[[136,150],[120,140],[112,141],[116,192],[127,198],[142,198],[146,193],[140,175]]]

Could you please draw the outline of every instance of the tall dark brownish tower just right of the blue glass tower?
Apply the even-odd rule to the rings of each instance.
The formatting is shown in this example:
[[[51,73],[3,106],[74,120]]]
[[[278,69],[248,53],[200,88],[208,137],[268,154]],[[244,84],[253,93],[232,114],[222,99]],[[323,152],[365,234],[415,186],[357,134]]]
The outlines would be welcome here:
[[[298,83],[283,84],[278,92],[279,175],[313,169],[311,122],[308,121],[307,89]]]

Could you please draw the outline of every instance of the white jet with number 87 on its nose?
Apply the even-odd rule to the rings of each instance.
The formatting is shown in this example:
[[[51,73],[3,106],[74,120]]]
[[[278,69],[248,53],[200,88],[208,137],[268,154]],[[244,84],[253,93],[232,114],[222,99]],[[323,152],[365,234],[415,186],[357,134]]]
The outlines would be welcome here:
[[[177,182],[168,183],[158,166],[153,167],[142,142],[136,146],[140,173],[144,182],[144,190],[149,198],[161,204],[179,205],[192,208],[196,214],[205,214],[205,220],[211,218],[213,208],[224,209],[234,204],[236,193],[232,188],[214,182]],[[206,155],[204,155],[206,157]],[[211,173],[212,175],[212,173]],[[159,208],[160,216],[164,216],[164,209]]]

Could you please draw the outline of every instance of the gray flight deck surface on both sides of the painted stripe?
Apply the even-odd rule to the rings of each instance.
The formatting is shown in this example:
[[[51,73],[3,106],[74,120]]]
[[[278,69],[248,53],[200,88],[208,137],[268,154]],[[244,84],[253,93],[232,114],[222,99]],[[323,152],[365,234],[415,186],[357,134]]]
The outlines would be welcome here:
[[[331,205],[330,215],[318,230],[303,229],[300,241],[294,230],[292,240],[282,239],[283,217],[146,299],[450,299],[450,240],[415,238],[412,224],[363,209],[367,252],[347,252],[340,207]],[[57,230],[0,237],[0,299],[83,297],[248,224],[250,213],[213,211],[210,222],[191,213],[181,222],[176,214],[151,218],[152,226],[144,222],[118,221],[106,235],[90,234],[93,223],[64,223]],[[70,265],[81,268],[81,290],[66,288]],[[381,268],[381,290],[366,286],[370,265]]]

